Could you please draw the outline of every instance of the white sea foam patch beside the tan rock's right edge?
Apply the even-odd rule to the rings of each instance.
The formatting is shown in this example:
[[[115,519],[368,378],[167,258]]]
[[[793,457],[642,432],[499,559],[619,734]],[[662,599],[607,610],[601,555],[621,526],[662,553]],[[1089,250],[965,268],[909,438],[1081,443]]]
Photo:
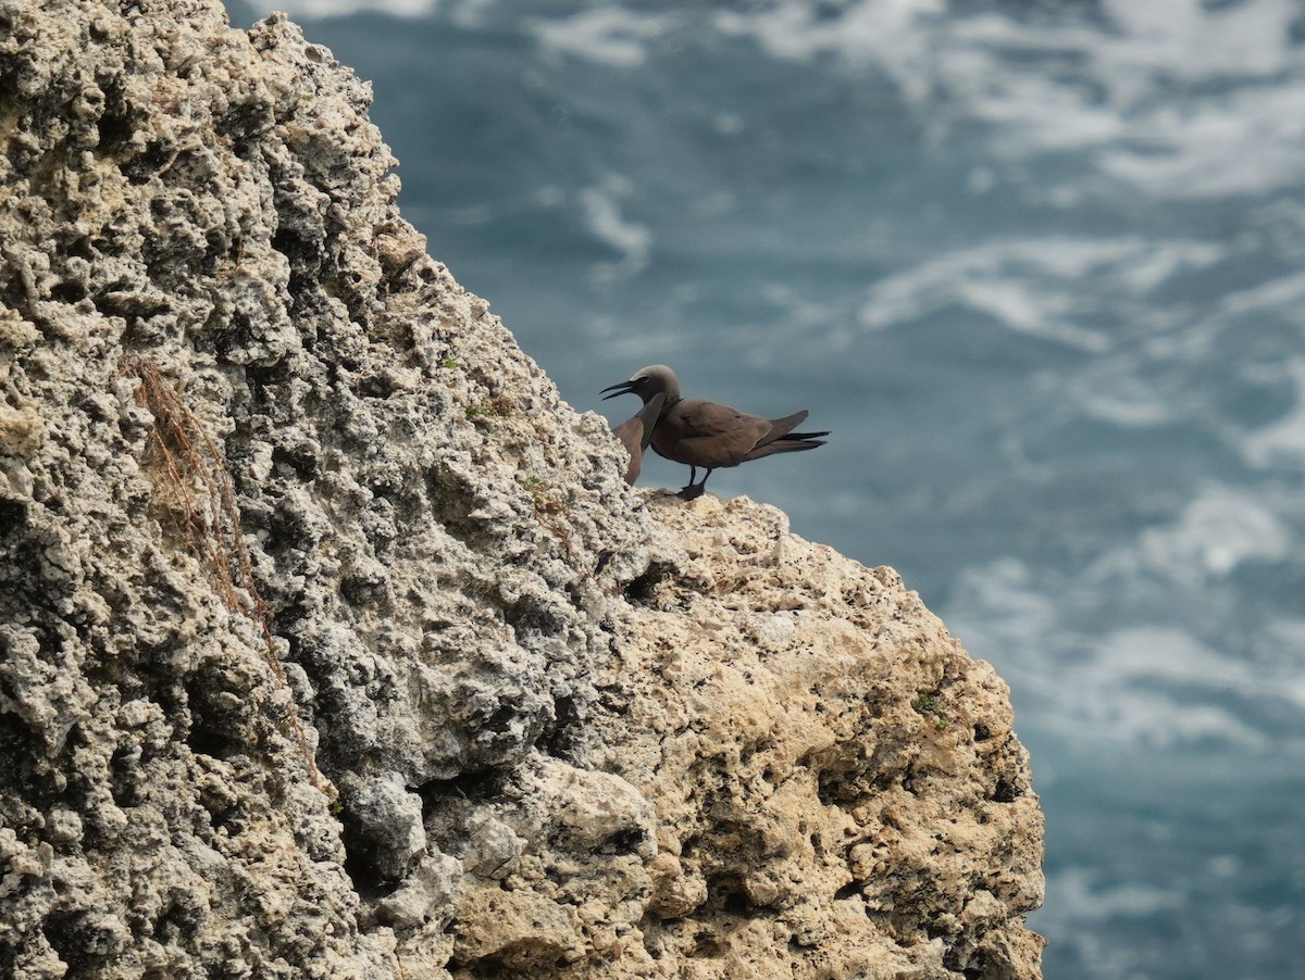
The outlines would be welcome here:
[[[1096,605],[1084,632],[1084,610]],[[1109,593],[1091,576],[1048,581],[1000,559],[964,572],[946,619],[976,656],[990,656],[1019,692],[1023,725],[1067,745],[1156,749],[1221,744],[1305,755],[1298,732],[1270,732],[1248,705],[1305,706],[1305,650],[1251,663],[1198,641],[1180,624],[1100,631]]]

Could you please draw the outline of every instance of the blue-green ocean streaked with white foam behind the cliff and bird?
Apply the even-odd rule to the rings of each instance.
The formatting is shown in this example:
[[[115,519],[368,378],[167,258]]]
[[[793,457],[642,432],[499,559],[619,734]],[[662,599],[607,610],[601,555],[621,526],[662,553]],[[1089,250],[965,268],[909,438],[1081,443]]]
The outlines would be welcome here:
[[[568,401],[666,362],[833,430],[710,489],[1010,683],[1048,977],[1305,977],[1305,7],[288,9]]]

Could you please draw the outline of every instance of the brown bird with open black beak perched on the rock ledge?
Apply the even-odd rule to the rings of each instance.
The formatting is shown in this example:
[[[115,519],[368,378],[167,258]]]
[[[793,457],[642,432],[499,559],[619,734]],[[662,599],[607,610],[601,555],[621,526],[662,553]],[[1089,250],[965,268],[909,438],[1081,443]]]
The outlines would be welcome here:
[[[814,450],[825,444],[821,437],[829,435],[827,431],[793,431],[806,418],[805,408],[783,418],[763,418],[716,401],[681,397],[680,379],[664,364],[641,368],[629,381],[609,384],[600,394],[604,401],[617,395],[638,395],[643,400],[643,411],[617,426],[619,430],[625,430],[622,442],[633,439],[633,424],[637,422],[643,426],[639,435],[643,440],[641,457],[642,450],[651,443],[652,451],[659,456],[684,463],[689,468],[689,482],[680,489],[679,497],[685,500],[702,497],[707,477],[716,469],[737,467],[776,452]],[[652,411],[656,412],[656,418],[649,431],[649,413]],[[632,444],[633,442],[628,442],[626,448]],[[633,451],[630,456],[633,460]],[[699,467],[706,469],[701,481],[697,480]],[[634,465],[634,473],[638,474],[638,465]]]

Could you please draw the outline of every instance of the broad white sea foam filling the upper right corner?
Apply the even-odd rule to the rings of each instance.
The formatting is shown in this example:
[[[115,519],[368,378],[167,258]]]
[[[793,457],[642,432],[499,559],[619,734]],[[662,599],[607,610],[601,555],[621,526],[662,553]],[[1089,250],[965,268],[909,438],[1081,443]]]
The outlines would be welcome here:
[[[1103,175],[1178,198],[1301,181],[1305,55],[1292,38],[1300,9],[1289,0],[1109,0],[1109,30],[1074,17],[944,17],[936,3],[861,0],[838,16],[816,9],[775,3],[719,14],[716,26],[753,36],[774,57],[834,53],[873,65],[930,124],[993,125],[998,159],[1096,149]],[[1278,83],[1266,89],[1265,79]],[[1073,203],[1084,190],[1058,193]]]

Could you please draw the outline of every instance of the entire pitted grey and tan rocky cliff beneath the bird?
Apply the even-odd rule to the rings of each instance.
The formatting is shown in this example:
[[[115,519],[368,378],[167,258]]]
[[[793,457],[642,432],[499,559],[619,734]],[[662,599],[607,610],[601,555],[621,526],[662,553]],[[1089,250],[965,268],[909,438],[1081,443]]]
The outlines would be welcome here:
[[[0,976],[1035,977],[1006,691],[621,481],[210,0],[0,0]]]

